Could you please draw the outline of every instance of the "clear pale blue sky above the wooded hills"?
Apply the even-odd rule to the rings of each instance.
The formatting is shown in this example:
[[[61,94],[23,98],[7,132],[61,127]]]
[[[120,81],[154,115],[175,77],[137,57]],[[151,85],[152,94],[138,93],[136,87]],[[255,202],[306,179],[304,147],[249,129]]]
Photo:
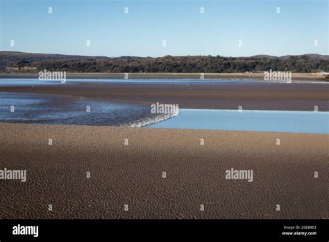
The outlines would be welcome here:
[[[328,0],[0,1],[0,49],[6,51],[87,56],[328,54]],[[15,40],[14,47],[10,40]]]

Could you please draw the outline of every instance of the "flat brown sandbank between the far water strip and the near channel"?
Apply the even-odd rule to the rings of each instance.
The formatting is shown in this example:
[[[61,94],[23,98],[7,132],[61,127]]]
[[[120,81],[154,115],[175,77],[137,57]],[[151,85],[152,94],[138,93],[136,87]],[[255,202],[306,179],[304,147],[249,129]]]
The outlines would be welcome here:
[[[82,99],[141,104],[178,104],[180,108],[329,111],[329,85],[310,83],[226,83],[154,85],[79,83],[58,86],[0,87],[0,92],[70,95]]]

